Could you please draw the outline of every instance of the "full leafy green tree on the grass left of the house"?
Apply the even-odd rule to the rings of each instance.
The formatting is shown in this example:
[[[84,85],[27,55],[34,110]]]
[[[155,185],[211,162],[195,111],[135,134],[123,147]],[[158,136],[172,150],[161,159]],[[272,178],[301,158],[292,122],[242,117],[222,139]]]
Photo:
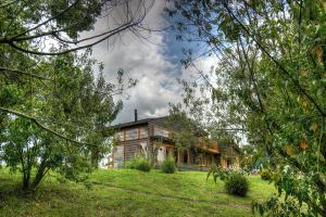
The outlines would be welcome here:
[[[86,56],[66,54],[41,63],[42,69],[52,72],[47,76],[55,77],[55,85],[48,87],[34,81],[33,92],[30,84],[20,87],[20,94],[15,95],[20,103],[12,105],[37,119],[3,115],[1,158],[12,170],[22,171],[24,190],[35,190],[50,169],[72,180],[84,180],[85,173],[110,151],[105,136],[113,130],[103,133],[103,129],[114,120],[122,102],[114,103],[108,94],[114,91],[114,85],[106,84],[101,74],[97,80],[93,78],[92,62]],[[85,141],[83,145],[75,142],[80,139]]]

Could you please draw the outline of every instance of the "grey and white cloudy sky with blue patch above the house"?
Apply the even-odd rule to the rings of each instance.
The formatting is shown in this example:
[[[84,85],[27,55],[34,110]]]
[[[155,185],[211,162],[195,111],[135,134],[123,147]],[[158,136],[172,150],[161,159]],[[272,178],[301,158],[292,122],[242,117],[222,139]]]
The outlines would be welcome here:
[[[164,7],[165,1],[156,0],[145,24],[152,29],[167,26]],[[109,17],[98,20],[95,31],[104,30],[109,24]],[[177,78],[191,80],[198,76],[193,68],[185,69],[181,66],[181,48],[186,44],[177,42],[174,33],[152,31],[145,37],[146,40],[128,33],[114,42],[97,44],[92,50],[93,58],[104,64],[108,81],[112,81],[118,68],[123,68],[126,76],[138,79],[137,87],[127,91],[129,98],[116,97],[116,100],[124,102],[116,123],[133,122],[135,108],[138,110],[138,119],[166,115],[168,103],[181,100],[183,89]],[[197,66],[203,71],[209,71],[212,64],[213,59],[197,62]]]

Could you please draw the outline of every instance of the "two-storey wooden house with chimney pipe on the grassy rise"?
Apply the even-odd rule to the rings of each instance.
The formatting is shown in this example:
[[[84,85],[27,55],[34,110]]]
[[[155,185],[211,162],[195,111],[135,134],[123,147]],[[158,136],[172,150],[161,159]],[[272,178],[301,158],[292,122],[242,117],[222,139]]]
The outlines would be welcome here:
[[[239,168],[239,150],[230,145],[216,142],[200,141],[187,148],[178,148],[173,135],[179,127],[167,124],[168,116],[158,118],[137,119],[120,124],[116,128],[116,144],[113,148],[113,166],[122,167],[124,162],[130,161],[142,153],[161,164],[168,155],[173,155],[178,167],[184,169],[209,168],[212,164],[224,168]],[[200,137],[200,136],[198,136]]]

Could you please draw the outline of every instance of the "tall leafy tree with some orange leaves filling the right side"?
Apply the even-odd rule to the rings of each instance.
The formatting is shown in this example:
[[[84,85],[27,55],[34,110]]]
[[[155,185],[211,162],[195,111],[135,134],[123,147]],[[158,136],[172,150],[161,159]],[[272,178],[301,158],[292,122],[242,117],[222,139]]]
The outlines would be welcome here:
[[[265,159],[263,166],[274,170],[279,194],[254,209],[272,216],[325,216],[325,3],[173,2],[167,13],[180,31],[177,38],[206,44],[202,55],[218,60],[216,79],[200,72],[211,92],[213,128],[244,132]],[[189,55],[184,63],[192,60]]]

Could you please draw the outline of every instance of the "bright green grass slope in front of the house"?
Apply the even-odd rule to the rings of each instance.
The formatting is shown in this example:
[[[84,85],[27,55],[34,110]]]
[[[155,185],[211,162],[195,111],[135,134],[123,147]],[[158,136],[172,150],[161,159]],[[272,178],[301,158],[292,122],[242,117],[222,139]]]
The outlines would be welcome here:
[[[231,196],[223,182],[205,178],[202,171],[101,169],[91,175],[90,190],[48,177],[36,194],[26,195],[18,190],[20,176],[0,169],[0,216],[252,216],[251,202],[275,192],[250,177],[248,196]]]

